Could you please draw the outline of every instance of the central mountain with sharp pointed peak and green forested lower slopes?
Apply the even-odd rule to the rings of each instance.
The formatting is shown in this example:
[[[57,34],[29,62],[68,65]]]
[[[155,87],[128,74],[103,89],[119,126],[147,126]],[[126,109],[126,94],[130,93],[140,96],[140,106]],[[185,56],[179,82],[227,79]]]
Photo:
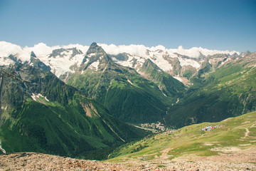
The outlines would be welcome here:
[[[166,94],[177,95],[184,89],[183,84],[174,78],[170,82],[171,76],[167,77],[167,73],[162,75],[156,80],[166,80],[165,86],[174,83],[168,85]],[[92,43],[68,84],[104,104],[115,117],[129,123],[162,122],[166,105],[176,100],[172,96],[166,97],[156,83],[143,78],[134,69],[114,63],[96,43]]]

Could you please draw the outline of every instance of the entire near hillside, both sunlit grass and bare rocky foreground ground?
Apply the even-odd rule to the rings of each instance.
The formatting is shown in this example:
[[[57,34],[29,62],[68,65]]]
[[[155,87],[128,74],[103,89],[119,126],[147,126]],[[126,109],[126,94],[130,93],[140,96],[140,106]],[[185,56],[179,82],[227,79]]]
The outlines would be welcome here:
[[[21,152],[0,155],[5,170],[255,170],[256,113],[190,125],[118,147],[105,161]],[[213,131],[202,128],[219,125]]]

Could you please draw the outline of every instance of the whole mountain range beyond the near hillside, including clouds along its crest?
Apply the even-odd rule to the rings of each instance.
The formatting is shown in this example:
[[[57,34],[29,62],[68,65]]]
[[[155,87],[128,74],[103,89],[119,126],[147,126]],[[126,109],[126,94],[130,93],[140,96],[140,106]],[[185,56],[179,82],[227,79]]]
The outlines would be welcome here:
[[[163,46],[21,48],[0,42],[5,150],[93,158],[146,131],[217,122],[256,110],[256,53]],[[82,146],[80,146],[82,145]]]

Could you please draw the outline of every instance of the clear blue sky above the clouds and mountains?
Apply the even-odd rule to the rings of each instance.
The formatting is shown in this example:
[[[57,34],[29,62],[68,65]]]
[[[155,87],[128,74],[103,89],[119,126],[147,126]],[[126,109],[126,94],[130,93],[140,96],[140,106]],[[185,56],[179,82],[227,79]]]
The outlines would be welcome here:
[[[256,1],[0,0],[0,41],[256,51]]]

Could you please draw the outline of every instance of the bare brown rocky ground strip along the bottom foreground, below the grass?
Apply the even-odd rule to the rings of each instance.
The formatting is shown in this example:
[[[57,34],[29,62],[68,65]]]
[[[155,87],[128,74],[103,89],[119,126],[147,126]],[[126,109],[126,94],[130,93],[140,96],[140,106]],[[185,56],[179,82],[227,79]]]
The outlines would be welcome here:
[[[256,149],[210,157],[122,163],[76,160],[34,152],[0,155],[0,170],[256,170]]]

